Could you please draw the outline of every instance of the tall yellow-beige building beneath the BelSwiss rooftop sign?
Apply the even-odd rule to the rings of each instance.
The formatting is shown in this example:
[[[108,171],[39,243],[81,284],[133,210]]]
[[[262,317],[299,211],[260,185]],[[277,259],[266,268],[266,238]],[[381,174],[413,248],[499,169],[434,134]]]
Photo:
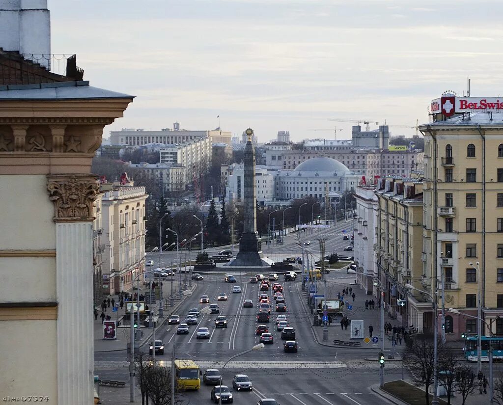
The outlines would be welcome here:
[[[463,107],[458,101],[456,109]],[[425,136],[423,287],[432,293],[444,280],[445,307],[477,316],[480,284],[482,317],[492,333],[503,335],[503,318],[496,319],[503,316],[503,114],[434,118],[420,127]],[[480,274],[470,265],[477,262]],[[477,332],[476,320],[447,317],[448,339]]]

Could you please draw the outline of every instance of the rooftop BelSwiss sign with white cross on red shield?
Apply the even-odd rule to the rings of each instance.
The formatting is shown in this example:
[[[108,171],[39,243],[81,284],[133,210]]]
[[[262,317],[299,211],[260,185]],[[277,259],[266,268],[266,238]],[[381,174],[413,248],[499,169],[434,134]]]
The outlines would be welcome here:
[[[503,97],[455,97],[443,96],[432,100],[431,112],[442,112],[446,117],[453,114],[476,113],[478,111],[503,110]]]

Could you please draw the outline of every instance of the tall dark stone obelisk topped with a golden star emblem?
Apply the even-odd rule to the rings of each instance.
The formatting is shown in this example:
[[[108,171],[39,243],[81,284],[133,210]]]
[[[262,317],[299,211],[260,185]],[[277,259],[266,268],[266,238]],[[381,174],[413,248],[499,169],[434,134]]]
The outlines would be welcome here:
[[[251,143],[253,130],[246,130],[248,140],[244,147],[243,179],[243,233],[239,239],[239,252],[230,266],[264,266],[262,248],[257,234],[257,197],[255,189],[255,149]]]

